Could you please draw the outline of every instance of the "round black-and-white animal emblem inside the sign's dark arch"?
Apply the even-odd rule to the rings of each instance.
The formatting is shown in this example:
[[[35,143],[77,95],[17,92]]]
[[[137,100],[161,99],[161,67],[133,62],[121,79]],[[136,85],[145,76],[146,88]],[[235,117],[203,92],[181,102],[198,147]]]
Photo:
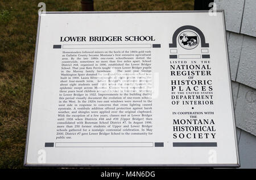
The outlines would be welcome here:
[[[199,44],[199,35],[191,30],[181,31],[177,38],[184,49],[194,49]]]

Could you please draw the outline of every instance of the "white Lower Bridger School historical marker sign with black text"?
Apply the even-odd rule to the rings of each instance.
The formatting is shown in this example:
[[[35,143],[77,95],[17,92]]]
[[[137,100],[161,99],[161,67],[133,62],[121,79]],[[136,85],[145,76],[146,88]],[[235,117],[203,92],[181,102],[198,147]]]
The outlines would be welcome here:
[[[25,165],[238,166],[224,13],[39,17]]]

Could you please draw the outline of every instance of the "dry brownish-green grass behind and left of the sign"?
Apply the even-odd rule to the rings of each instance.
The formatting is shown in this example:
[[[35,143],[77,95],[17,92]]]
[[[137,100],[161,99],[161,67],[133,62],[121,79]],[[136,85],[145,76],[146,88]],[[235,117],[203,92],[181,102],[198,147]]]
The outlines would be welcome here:
[[[0,168],[23,168],[39,2],[0,1]],[[80,0],[43,2],[81,11]],[[94,0],[94,10],[193,10],[193,0]]]

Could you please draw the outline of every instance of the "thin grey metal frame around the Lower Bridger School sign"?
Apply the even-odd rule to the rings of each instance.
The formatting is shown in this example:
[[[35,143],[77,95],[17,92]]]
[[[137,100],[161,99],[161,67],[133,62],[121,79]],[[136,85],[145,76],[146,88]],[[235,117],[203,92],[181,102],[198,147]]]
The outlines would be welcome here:
[[[43,14],[120,14],[120,13],[177,13],[177,12],[188,12],[188,13],[200,13],[200,12],[209,12],[207,10],[202,11],[51,11],[51,12],[41,12]],[[233,91],[231,84],[231,74],[230,74],[230,63],[229,63],[229,52],[228,52],[228,43],[226,38],[226,23],[225,23],[225,14],[224,10],[216,10],[215,12],[221,12],[224,23],[224,36],[225,36],[225,46],[226,46],[226,59],[228,63],[228,79],[229,79],[229,87],[230,87],[230,98],[232,101],[232,114],[233,114],[233,125],[234,125],[234,137],[236,142],[236,153],[237,153],[237,164],[27,164],[27,149],[28,149],[28,141],[30,134],[30,122],[31,122],[31,111],[32,111],[32,99],[34,93],[34,83],[35,83],[35,71],[36,71],[36,59],[38,54],[38,44],[39,44],[39,32],[40,32],[40,20],[41,15],[38,18],[38,29],[36,33],[36,45],[35,45],[35,56],[34,56],[34,68],[32,75],[32,84],[31,84],[31,95],[30,95],[30,108],[28,113],[28,124],[27,124],[27,136],[26,136],[26,148],[24,152],[24,166],[28,167],[43,167],[43,166],[53,166],[53,167],[240,167],[240,157],[237,143],[237,132],[236,132],[236,120],[234,117],[234,104],[233,104]]]

